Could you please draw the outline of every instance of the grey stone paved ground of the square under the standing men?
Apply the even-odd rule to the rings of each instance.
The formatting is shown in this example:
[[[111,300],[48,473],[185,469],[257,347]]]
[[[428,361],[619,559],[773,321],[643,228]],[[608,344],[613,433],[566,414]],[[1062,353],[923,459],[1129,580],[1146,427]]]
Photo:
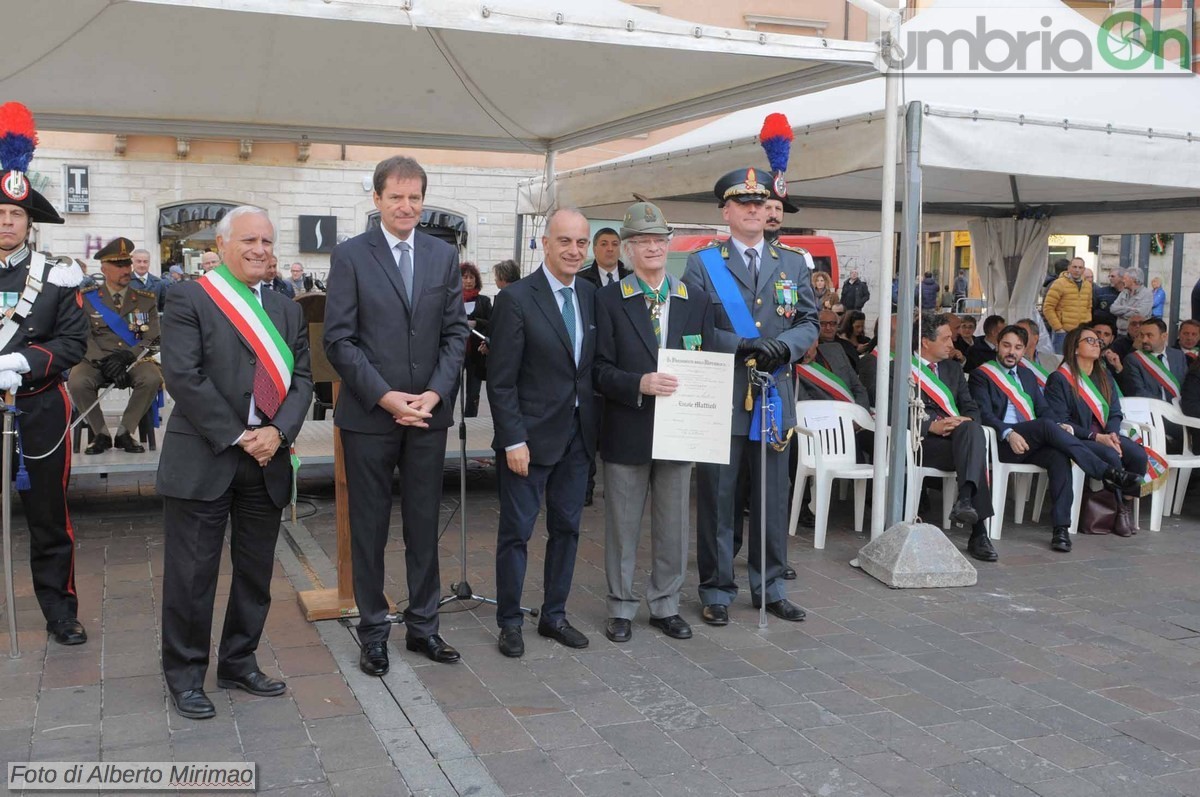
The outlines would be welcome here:
[[[448,585],[460,565],[457,483],[446,484]],[[469,486],[468,575],[488,593],[494,483],[473,467]],[[772,618],[760,631],[743,597],[730,627],[709,629],[692,568],[683,612],[696,637],[666,640],[643,611],[632,642],[617,646],[602,635],[598,505],[569,604],[589,648],[527,627],[528,653],[512,661],[496,649],[490,609],[458,611],[443,631],[462,664],[394,645],[394,671],[378,681],[355,671],[349,629],[308,625],[295,609],[306,574],[330,573],[331,487],[318,474],[302,485],[316,514],[278,550],[262,649],[288,696],[214,690],[218,718],[191,723],[167,711],[157,671],[157,502],[137,485],[79,490],[92,641],[47,649],[18,545],[29,630],[22,659],[0,658],[6,761],[245,759],[258,762],[260,789],[305,795],[1200,795],[1194,508],[1160,534],[1078,539],[1069,556],[1049,551],[1048,531],[1009,522],[1002,559],[980,567],[977,587],[896,592],[847,567],[862,539],[838,504],[824,551],[810,537],[791,549],[806,622]],[[526,597],[536,603],[540,541],[533,551]],[[402,600],[398,540],[388,557]]]

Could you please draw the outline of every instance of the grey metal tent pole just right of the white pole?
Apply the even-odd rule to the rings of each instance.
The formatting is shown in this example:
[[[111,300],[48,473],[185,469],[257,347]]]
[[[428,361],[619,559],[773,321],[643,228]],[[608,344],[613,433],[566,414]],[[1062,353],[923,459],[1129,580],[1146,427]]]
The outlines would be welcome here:
[[[908,376],[912,372],[912,313],[916,289],[917,257],[920,251],[920,122],[919,102],[910,102],[905,114],[905,192],[904,192],[904,263],[900,264],[896,296],[895,383],[892,385],[892,414],[888,437],[892,456],[888,462],[888,527],[906,520],[904,515],[906,448],[908,445]],[[912,474],[908,474],[912,478]]]

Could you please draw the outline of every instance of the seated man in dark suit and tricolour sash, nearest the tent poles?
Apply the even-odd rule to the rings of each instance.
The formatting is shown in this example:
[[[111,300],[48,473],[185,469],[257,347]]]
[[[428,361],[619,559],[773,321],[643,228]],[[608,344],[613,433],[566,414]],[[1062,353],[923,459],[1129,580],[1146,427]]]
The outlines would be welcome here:
[[[967,553],[980,562],[995,562],[1000,555],[988,539],[985,523],[992,509],[979,408],[967,390],[962,366],[949,359],[954,340],[946,316],[922,313],[917,326],[913,337],[920,340],[920,356],[913,358],[912,378],[920,386],[928,413],[918,430],[922,460],[940,471],[955,472],[959,496],[950,521],[971,527]]]

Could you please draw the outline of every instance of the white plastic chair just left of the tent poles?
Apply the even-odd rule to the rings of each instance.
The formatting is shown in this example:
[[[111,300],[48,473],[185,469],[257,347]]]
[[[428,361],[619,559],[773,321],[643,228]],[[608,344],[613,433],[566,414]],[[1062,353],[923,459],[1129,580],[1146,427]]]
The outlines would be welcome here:
[[[812,514],[816,516],[812,547],[823,549],[826,529],[829,526],[829,498],[834,479],[854,481],[854,531],[863,531],[863,515],[866,508],[865,480],[874,478],[875,466],[859,465],[856,461],[858,447],[854,442],[854,425],[875,431],[875,419],[869,412],[848,401],[798,401],[796,418],[799,461],[796,467],[796,485],[792,487],[792,511],[787,533],[796,535],[804,485],[811,475],[815,504]]]

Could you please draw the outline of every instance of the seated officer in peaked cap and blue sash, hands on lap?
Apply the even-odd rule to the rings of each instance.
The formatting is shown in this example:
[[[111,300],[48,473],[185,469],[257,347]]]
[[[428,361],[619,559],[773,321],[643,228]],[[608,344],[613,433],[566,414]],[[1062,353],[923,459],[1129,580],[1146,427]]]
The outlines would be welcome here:
[[[130,284],[133,277],[133,241],[130,239],[114,239],[96,253],[96,259],[104,283],[79,292],[91,334],[83,361],[71,368],[67,390],[76,409],[86,413],[88,426],[96,436],[84,454],[103,454],[113,448],[114,439],[96,398],[104,385],[132,388],[116,427],[115,444],[122,451],[142,454],[145,447],[133,439],[133,431],[162,388],[162,371],[157,362],[138,358],[158,343],[158,296],[154,290]]]

